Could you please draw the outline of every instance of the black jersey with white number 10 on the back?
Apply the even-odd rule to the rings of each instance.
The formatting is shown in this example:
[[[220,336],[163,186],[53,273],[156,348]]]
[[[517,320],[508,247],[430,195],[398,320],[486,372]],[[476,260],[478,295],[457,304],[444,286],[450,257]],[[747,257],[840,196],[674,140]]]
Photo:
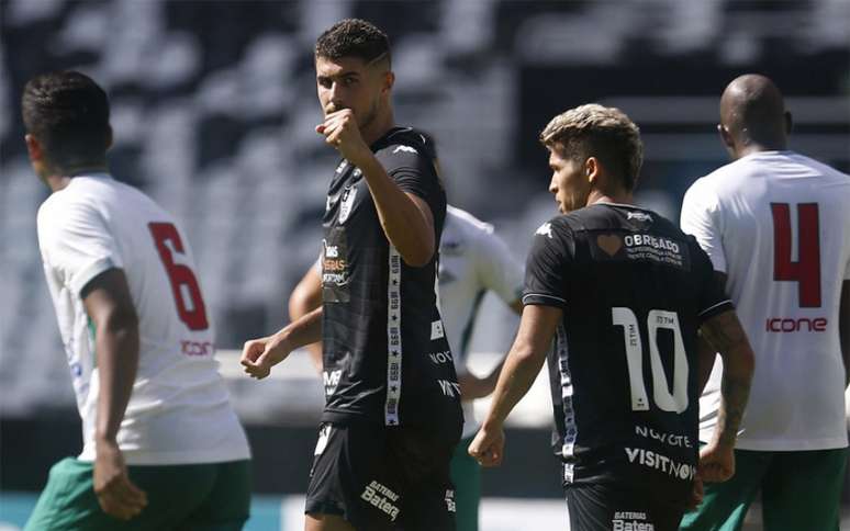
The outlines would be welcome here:
[[[596,203],[537,229],[524,304],[563,309],[549,354],[564,484],[624,482],[684,501],[696,472],[696,338],[731,308],[693,237]]]

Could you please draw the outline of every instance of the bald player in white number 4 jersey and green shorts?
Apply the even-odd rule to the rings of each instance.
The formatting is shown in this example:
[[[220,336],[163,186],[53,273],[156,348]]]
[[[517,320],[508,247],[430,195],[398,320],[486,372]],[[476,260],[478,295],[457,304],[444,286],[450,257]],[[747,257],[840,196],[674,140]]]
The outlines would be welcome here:
[[[737,473],[706,486],[682,529],[740,529],[759,489],[767,530],[838,529],[848,444],[850,177],[787,149],[791,114],[763,76],[729,83],[718,129],[735,161],[691,187],[681,225],[725,282],[752,342],[756,374]],[[701,399],[703,441],[716,421],[719,363]]]

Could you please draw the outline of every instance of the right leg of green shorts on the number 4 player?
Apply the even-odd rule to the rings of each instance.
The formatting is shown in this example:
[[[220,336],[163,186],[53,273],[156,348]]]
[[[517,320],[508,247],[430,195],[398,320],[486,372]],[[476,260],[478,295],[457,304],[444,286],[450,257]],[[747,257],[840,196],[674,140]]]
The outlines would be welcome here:
[[[764,476],[765,531],[838,531],[847,449],[776,452]]]

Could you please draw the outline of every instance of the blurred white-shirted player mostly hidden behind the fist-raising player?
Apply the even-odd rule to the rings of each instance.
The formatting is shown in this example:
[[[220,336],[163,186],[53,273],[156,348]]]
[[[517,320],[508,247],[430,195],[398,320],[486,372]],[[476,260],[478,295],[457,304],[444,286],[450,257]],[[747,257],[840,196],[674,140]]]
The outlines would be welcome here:
[[[488,291],[494,292],[516,313],[522,309],[523,270],[511,250],[494,231],[468,212],[451,205],[446,210],[446,226],[439,247],[439,306],[450,355],[458,373],[463,406],[463,433],[451,457],[451,481],[455,484],[458,531],[478,530],[478,508],[481,501],[481,468],[469,455],[467,447],[478,430],[472,403],[493,392],[502,362],[485,377],[479,377],[467,366],[469,340],[478,309]],[[289,300],[290,318],[298,319],[322,304],[321,267],[312,267],[299,282]],[[307,346],[313,360],[321,343]]]

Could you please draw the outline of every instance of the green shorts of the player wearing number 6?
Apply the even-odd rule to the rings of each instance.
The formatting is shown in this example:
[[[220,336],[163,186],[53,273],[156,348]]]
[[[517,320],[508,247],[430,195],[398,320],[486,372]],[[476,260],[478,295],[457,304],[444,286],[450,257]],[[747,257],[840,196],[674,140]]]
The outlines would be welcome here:
[[[250,462],[130,466],[147,507],[127,521],[103,512],[94,496],[93,464],[72,457],[53,465],[25,531],[237,531],[248,519]]]

